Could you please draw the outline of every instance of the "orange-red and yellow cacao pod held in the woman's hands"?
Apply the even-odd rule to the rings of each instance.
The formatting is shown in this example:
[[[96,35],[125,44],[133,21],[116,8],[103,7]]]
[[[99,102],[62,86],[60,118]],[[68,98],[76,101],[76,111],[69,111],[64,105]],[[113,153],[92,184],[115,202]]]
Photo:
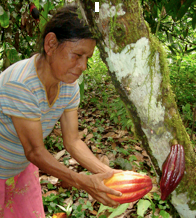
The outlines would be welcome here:
[[[111,178],[106,179],[104,184],[122,193],[120,197],[108,194],[111,199],[121,204],[136,201],[152,189],[152,180],[149,176],[133,171],[115,173]]]

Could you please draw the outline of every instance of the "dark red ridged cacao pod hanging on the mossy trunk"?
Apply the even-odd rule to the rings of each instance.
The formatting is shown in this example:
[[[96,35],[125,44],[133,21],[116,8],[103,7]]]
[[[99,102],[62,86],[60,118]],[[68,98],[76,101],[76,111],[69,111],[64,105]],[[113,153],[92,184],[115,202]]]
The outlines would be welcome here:
[[[161,199],[165,200],[180,183],[185,170],[184,148],[176,144],[171,146],[170,153],[163,164],[160,181]]]

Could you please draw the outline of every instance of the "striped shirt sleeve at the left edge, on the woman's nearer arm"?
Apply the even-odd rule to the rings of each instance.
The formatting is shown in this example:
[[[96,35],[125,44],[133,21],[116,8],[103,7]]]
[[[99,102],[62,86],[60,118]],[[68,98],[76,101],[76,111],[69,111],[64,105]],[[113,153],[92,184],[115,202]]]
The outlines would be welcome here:
[[[40,120],[39,103],[22,83],[8,82],[0,87],[0,111],[9,116]]]

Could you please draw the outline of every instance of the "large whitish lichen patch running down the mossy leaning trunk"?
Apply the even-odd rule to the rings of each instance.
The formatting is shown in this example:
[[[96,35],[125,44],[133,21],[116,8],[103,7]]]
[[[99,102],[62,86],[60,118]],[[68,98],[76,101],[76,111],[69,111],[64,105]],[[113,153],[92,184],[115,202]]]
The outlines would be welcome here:
[[[159,53],[151,54],[149,39],[145,37],[127,45],[120,53],[114,53],[109,48],[105,50],[109,69],[129,92],[128,98],[137,108],[142,129],[161,169],[170,151],[172,135],[164,126],[165,107],[161,100],[157,100],[161,95],[162,82]]]

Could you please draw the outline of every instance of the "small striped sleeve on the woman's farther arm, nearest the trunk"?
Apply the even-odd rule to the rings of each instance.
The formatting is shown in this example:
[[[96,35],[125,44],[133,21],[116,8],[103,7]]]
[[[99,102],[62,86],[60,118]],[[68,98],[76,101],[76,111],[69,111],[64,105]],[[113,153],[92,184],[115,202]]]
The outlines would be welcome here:
[[[65,111],[77,110],[80,104],[80,87],[76,81],[73,86],[72,97],[70,98],[69,104],[66,106]]]

